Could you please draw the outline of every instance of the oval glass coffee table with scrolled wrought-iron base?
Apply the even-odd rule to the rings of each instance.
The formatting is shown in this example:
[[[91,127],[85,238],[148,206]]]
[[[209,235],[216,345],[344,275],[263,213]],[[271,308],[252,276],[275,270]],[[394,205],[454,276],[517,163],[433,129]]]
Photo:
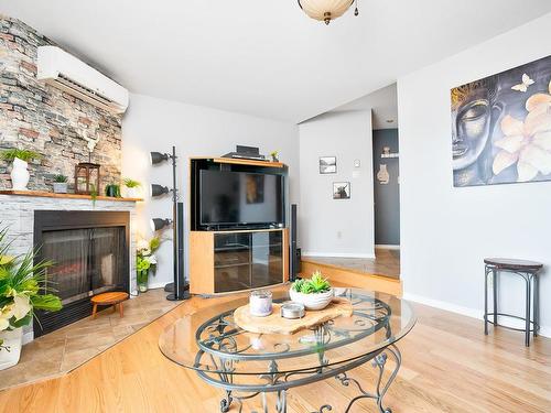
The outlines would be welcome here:
[[[256,334],[234,323],[234,311],[248,303],[248,297],[210,298],[209,305],[177,319],[159,338],[159,347],[170,360],[196,371],[206,383],[225,392],[220,412],[235,403],[262,398],[268,412],[267,393],[276,394],[274,409],[287,412],[289,389],[335,378],[343,385],[354,384],[360,399],[374,399],[378,411],[391,412],[382,399],[401,365],[396,346],[415,324],[411,306],[385,293],[357,289],[335,289],[354,308],[350,317],[338,317],[312,329],[293,335]],[[289,301],[287,291],[273,291],[274,302]],[[387,359],[393,359],[390,374],[383,374]],[[377,372],[374,390],[365,390],[348,371],[371,362]],[[316,411],[331,411],[328,404]],[[273,410],[270,410],[273,411]]]

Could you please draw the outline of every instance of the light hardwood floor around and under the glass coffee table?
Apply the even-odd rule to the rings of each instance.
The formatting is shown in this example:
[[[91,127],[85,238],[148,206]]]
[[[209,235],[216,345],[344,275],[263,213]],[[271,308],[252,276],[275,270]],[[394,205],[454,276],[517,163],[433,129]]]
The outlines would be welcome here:
[[[194,297],[64,377],[0,392],[0,412],[218,412],[220,392],[158,349],[164,327],[208,304]],[[551,411],[550,339],[538,337],[525,348],[521,333],[498,329],[484,336],[479,320],[414,307],[419,322],[399,343],[403,363],[385,400],[395,413]],[[369,388],[375,370],[369,365],[349,376]],[[292,389],[290,412],[329,403],[341,413],[356,394],[354,387],[325,380]],[[259,406],[252,400],[244,411]],[[352,410],[375,411],[369,400]]]

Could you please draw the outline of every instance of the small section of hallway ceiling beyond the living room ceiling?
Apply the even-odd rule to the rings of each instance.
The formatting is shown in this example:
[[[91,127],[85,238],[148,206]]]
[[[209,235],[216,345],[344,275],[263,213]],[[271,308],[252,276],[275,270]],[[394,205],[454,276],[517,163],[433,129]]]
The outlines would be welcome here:
[[[371,109],[372,129],[398,128],[398,90],[396,84],[342,105],[332,112]]]

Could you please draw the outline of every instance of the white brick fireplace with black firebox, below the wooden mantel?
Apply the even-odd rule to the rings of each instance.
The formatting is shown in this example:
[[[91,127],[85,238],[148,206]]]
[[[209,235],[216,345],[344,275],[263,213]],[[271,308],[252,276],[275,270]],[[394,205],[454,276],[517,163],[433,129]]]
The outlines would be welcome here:
[[[98,197],[93,202],[86,196],[0,191],[0,226],[9,228],[11,252],[21,254],[42,244],[42,257],[58,262],[52,269],[62,273],[55,275],[61,281],[56,290],[65,290],[62,300],[67,311],[45,318],[44,330],[36,324],[34,333],[33,327],[25,328],[25,341],[86,317],[90,293],[137,290],[134,199]]]

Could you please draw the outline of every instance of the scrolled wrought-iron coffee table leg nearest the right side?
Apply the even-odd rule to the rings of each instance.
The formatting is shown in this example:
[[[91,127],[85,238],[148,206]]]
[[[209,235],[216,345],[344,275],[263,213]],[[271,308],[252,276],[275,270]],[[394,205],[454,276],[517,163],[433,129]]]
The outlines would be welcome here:
[[[392,370],[392,372],[390,373],[390,377],[388,378],[387,382],[385,384],[382,384],[382,373],[385,371],[385,366],[387,363],[387,359],[388,359],[389,355],[392,356],[392,358],[395,359],[396,367],[395,367],[395,370]],[[361,393],[361,394],[355,396],[353,400],[350,400],[350,402],[348,403],[348,406],[345,410],[345,413],[348,413],[350,411],[353,404],[356,403],[360,399],[374,399],[377,402],[377,407],[378,407],[380,413],[391,413],[392,412],[392,410],[390,407],[382,406],[382,399],[385,398],[385,394],[387,393],[388,389],[390,388],[390,384],[392,384],[392,382],[395,381],[396,376],[398,374],[398,370],[400,369],[400,366],[402,363],[402,356],[400,354],[400,350],[395,345],[391,345],[391,346],[387,347],[383,352],[376,356],[372,363],[374,363],[374,367],[379,369],[379,374],[377,378],[377,385],[375,388],[374,393],[365,391],[361,388],[361,384],[356,379],[349,378],[346,374],[346,372],[337,374],[335,377],[335,379],[339,380],[343,385],[349,385],[350,383],[356,384],[356,387],[358,388],[358,390]]]

